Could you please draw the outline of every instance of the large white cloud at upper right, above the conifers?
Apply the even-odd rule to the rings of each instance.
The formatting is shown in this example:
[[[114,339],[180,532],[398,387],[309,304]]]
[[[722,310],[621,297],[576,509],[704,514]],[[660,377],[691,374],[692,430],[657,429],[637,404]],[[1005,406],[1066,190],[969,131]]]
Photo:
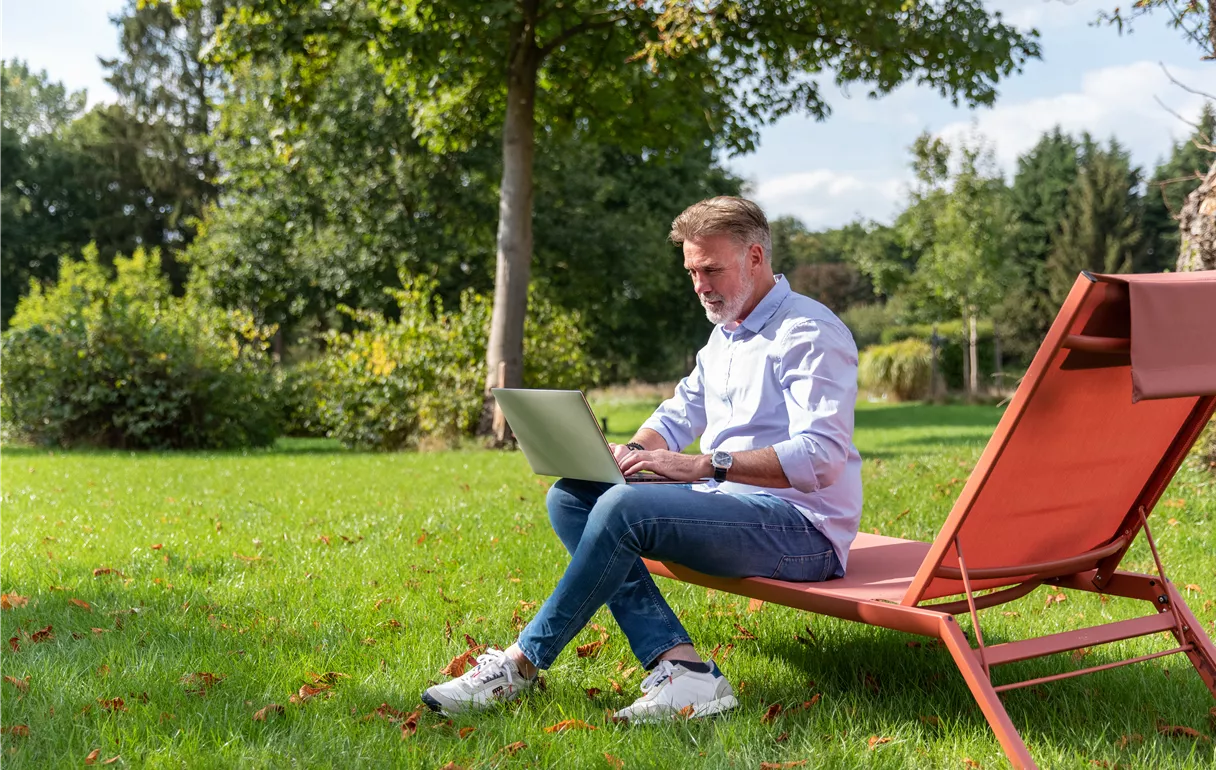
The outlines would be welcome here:
[[[1193,86],[1211,77],[1197,68],[1178,67],[1170,72]],[[1136,163],[1150,165],[1169,151],[1172,141],[1192,130],[1154,97],[1192,122],[1198,119],[1203,106],[1203,97],[1171,84],[1160,64],[1139,61],[1090,71],[1082,75],[1080,90],[1002,102],[976,113],[972,122],[946,125],[938,135],[955,141],[978,129],[995,145],[1001,167],[1012,172],[1019,154],[1032,147],[1043,131],[1059,125],[1071,134],[1088,131],[1100,141],[1118,136]]]

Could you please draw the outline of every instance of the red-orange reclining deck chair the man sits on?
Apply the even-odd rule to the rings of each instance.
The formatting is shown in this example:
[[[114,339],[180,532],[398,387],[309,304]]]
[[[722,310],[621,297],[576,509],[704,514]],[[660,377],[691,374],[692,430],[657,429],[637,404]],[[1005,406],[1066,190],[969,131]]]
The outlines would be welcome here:
[[[657,575],[940,639],[1015,768],[1035,768],[1000,693],[1184,653],[1216,696],[1216,647],[1166,579],[1148,517],[1216,409],[1216,272],[1082,274],[936,540],[858,534],[844,578]],[[1148,539],[1156,573],[1119,569]],[[976,612],[1038,585],[1144,600],[1145,617],[985,646]],[[976,591],[992,589],[978,595]],[[933,600],[957,597],[930,603]],[[976,646],[955,622],[969,613]],[[993,685],[992,667],[1169,631],[1136,658]]]

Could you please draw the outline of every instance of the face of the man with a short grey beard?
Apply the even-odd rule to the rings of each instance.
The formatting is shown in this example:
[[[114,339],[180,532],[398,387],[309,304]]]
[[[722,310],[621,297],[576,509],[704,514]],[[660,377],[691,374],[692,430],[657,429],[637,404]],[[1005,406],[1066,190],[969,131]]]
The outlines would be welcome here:
[[[738,320],[751,298],[755,276],[749,251],[728,235],[685,241],[685,270],[710,322]]]

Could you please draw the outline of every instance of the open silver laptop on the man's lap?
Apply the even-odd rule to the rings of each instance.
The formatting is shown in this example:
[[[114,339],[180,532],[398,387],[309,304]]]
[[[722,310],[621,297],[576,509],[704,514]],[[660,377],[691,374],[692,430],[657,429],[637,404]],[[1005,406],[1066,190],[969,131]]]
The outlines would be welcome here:
[[[655,473],[626,478],[581,390],[492,388],[491,392],[534,473],[607,484],[689,483]]]

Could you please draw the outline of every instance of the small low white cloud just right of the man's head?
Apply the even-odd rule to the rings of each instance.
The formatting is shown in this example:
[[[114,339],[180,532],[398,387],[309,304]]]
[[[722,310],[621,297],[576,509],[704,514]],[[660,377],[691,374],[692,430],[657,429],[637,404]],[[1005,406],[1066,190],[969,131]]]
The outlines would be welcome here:
[[[811,229],[834,226],[861,217],[885,217],[902,197],[906,182],[815,169],[761,181],[753,197],[770,218],[793,215]]]

